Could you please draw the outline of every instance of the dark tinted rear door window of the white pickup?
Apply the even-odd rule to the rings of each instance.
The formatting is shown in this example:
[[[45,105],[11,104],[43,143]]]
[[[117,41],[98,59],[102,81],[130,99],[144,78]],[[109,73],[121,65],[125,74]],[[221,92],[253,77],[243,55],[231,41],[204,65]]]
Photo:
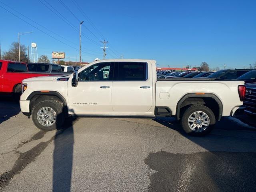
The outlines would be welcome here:
[[[143,62],[120,62],[118,64],[118,80],[145,81],[146,65]]]

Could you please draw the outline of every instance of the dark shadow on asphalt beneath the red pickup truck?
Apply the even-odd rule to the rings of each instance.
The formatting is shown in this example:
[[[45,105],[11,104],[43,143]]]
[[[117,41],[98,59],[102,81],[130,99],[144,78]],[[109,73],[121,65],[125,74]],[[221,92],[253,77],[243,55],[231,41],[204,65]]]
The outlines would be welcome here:
[[[0,124],[19,114],[20,104],[10,96],[0,96]]]

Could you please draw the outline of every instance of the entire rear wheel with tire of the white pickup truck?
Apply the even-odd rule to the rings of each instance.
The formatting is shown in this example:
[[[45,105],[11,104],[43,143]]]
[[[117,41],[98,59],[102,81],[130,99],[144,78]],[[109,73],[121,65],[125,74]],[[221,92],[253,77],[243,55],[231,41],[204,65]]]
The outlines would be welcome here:
[[[184,111],[181,126],[187,134],[202,136],[212,131],[215,121],[214,113],[210,108],[204,105],[194,105]]]

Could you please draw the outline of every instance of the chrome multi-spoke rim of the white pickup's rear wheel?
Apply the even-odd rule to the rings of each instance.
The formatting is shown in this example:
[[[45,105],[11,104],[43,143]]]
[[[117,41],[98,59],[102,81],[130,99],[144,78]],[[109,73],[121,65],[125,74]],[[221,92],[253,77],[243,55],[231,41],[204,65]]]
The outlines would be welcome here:
[[[193,131],[202,132],[206,130],[209,125],[210,118],[205,112],[196,111],[188,117],[188,126]]]

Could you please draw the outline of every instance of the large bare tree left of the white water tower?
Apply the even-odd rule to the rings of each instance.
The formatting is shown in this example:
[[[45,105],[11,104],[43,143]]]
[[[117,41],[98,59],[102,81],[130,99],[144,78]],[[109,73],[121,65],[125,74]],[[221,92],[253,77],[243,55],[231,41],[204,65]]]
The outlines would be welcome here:
[[[25,45],[20,44],[20,61],[28,62],[27,47]],[[3,53],[4,60],[19,60],[19,44],[18,42],[12,42],[10,49]]]

